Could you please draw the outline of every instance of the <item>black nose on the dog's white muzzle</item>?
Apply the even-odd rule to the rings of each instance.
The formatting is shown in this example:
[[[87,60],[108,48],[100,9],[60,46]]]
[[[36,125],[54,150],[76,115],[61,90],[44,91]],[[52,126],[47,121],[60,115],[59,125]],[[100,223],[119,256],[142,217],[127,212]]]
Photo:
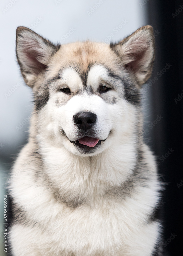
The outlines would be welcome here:
[[[97,115],[92,112],[79,112],[73,115],[75,125],[82,130],[88,130],[95,123]]]

